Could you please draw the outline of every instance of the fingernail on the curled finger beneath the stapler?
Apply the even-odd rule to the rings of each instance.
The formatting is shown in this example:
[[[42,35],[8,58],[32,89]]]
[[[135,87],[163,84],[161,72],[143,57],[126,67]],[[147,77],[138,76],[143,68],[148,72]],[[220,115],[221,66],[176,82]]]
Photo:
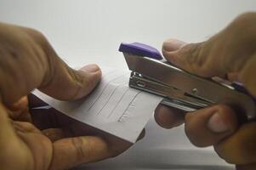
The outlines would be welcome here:
[[[230,127],[222,120],[219,112],[213,114],[208,121],[208,128],[214,133],[225,133]]]

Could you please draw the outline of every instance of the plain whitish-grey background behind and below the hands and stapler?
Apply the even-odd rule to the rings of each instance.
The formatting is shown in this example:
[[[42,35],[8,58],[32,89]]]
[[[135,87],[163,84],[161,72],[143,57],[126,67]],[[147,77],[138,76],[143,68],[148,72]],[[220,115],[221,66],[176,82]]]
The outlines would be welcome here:
[[[98,63],[126,69],[120,42],[145,42],[161,49],[169,37],[207,39],[255,0],[0,0],[0,21],[42,31],[70,65]],[[104,166],[138,169],[231,169],[211,148],[193,147],[183,127],[162,130],[151,120],[146,137]],[[119,167],[118,167],[119,166]],[[121,167],[120,167],[121,166]],[[220,167],[218,167],[220,166]]]

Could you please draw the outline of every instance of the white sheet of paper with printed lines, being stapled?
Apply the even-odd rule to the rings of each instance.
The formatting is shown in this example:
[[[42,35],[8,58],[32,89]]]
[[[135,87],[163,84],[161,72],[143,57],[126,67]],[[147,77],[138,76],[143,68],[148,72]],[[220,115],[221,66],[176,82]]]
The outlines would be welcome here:
[[[99,86],[84,99],[60,101],[38,90],[33,94],[77,121],[134,143],[162,98],[129,88],[130,71],[102,72]]]

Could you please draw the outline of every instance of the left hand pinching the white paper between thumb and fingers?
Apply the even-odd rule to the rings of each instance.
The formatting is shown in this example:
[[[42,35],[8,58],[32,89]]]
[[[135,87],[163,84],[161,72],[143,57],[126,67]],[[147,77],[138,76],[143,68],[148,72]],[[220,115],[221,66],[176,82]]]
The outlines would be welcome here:
[[[97,65],[74,71],[35,30],[0,24],[1,169],[66,169],[117,156],[130,143],[87,127],[27,94],[38,88],[56,99],[88,95],[101,77]],[[84,136],[87,135],[87,136]]]

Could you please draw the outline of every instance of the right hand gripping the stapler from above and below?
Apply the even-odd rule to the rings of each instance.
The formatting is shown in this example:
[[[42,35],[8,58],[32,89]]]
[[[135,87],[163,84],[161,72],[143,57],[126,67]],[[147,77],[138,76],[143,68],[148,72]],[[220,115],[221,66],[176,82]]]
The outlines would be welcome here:
[[[242,82],[256,97],[255,13],[242,14],[206,42],[168,40],[163,43],[162,54],[169,62],[198,76]],[[192,144],[213,145],[220,157],[236,164],[239,170],[256,169],[256,122],[240,125],[235,112],[227,105],[214,105],[184,116],[159,105],[155,118],[167,128],[185,122],[185,133]]]

